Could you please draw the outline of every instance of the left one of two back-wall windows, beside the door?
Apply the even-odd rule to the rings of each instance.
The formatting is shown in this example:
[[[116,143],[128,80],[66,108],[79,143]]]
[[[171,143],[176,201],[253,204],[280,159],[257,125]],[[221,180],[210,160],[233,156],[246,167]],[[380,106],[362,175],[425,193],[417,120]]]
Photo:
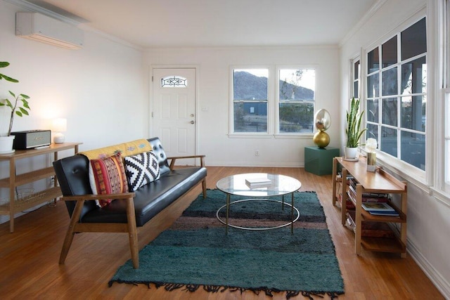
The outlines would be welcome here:
[[[234,132],[267,132],[268,69],[233,70]]]

